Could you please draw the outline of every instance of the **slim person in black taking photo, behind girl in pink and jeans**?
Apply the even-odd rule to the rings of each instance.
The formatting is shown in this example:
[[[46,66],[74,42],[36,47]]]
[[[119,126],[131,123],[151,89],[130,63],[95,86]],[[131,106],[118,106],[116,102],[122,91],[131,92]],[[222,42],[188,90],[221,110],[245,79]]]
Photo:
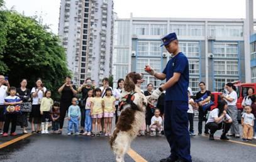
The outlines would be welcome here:
[[[80,104],[81,110],[81,131],[80,133],[84,133],[84,126],[86,121],[86,99],[88,97],[88,91],[92,89],[92,80],[91,78],[87,78],[84,84],[82,84],[78,89],[77,92],[82,92],[82,99]]]

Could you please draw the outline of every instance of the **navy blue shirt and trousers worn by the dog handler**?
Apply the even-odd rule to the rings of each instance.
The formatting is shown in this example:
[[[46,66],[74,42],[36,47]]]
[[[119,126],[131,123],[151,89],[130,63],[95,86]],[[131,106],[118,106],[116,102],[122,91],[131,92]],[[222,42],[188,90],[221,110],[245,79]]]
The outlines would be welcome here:
[[[169,60],[163,73],[166,75],[166,81],[172,78],[174,73],[181,73],[179,81],[167,89],[165,93],[164,131],[170,144],[170,158],[192,161],[187,118],[187,110],[189,109],[187,95],[189,62],[187,57],[182,52],[178,53]]]

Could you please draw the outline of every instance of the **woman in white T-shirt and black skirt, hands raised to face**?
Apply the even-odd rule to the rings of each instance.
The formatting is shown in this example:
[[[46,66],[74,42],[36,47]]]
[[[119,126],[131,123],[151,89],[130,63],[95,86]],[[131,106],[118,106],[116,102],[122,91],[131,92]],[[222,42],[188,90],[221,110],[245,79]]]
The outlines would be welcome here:
[[[33,87],[31,90],[32,95],[32,110],[30,113],[30,122],[31,122],[31,129],[32,133],[40,133],[40,127],[41,127],[41,114],[40,114],[40,104],[41,100],[43,99],[43,96],[45,95],[45,91],[47,90],[46,87],[43,86],[43,82],[41,78],[38,78],[36,80],[36,86]],[[35,124],[37,125],[36,131],[35,131]]]

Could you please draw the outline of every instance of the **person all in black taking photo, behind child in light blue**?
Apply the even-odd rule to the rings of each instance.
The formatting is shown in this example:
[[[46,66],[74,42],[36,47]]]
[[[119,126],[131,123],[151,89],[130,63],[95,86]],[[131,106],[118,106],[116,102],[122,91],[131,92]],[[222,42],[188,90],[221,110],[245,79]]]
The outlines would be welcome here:
[[[62,134],[62,128],[64,124],[64,119],[69,106],[72,104],[73,97],[77,94],[75,85],[72,85],[71,77],[65,77],[65,83],[58,89],[60,93],[60,130],[58,134]]]

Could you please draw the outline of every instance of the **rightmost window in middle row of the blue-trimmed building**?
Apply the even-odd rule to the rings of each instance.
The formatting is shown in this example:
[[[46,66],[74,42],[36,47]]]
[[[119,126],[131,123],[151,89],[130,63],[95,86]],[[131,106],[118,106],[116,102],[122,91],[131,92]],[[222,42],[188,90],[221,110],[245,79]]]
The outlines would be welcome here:
[[[236,43],[214,43],[213,54],[214,57],[237,58],[238,45]]]

